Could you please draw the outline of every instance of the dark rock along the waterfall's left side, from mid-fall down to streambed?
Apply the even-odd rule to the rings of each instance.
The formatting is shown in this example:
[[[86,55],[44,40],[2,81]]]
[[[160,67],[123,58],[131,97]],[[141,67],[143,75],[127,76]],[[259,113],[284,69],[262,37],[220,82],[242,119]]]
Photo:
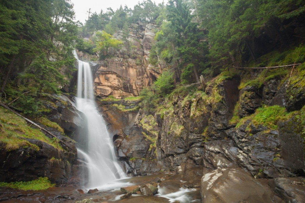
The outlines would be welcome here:
[[[75,131],[82,128],[83,120],[81,113],[73,107],[70,99],[63,95],[59,97],[48,95],[45,100],[48,101],[45,103],[45,107],[49,109],[45,113],[48,119],[57,122],[67,135],[76,136]],[[51,103],[53,104],[50,105]],[[79,171],[75,170],[77,163],[75,142],[54,128],[39,125],[67,145],[61,144],[63,149],[57,149],[40,140],[28,138],[28,142],[39,147],[38,151],[23,147],[7,151],[4,144],[1,144],[0,161],[3,166],[0,169],[0,181],[30,181],[38,177],[48,177],[51,182],[56,184],[79,184],[81,180],[73,180],[73,177],[79,175]]]

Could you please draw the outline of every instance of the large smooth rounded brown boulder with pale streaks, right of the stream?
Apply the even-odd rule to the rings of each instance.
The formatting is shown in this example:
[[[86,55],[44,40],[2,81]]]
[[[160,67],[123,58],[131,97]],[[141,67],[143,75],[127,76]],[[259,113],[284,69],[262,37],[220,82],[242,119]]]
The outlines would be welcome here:
[[[239,168],[217,169],[201,179],[203,202],[273,202],[275,194],[267,183],[255,180]],[[283,201],[279,201],[283,202]]]

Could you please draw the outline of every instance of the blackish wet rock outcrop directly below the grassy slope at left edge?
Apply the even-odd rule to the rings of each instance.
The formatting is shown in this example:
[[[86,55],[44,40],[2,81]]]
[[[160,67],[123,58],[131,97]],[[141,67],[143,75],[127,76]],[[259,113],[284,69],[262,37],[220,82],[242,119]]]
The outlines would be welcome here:
[[[48,177],[53,183],[65,184],[71,177],[71,165],[75,156],[68,156],[68,152],[61,151],[36,139],[27,139],[38,146],[32,148],[7,151],[5,144],[0,143],[0,181],[30,181],[38,177]],[[71,159],[70,159],[71,158]]]

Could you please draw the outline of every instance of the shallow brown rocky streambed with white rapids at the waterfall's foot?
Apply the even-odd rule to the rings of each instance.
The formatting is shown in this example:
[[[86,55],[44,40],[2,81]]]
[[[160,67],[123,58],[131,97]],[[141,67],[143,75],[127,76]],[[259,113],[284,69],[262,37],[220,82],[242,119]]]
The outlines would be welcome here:
[[[52,187],[41,191],[22,191],[7,187],[0,188],[0,201],[16,202],[201,202],[200,190],[182,187],[184,180],[174,173],[143,177],[130,177],[105,185],[99,189],[66,186]],[[199,180],[196,180],[199,182]],[[148,185],[156,187],[154,195],[147,190]],[[128,193],[136,188],[134,194]],[[141,190],[140,190],[141,188]],[[124,191],[124,192],[122,192]],[[138,191],[138,192],[137,192]],[[127,193],[126,193],[127,192]],[[131,194],[125,195],[124,193]],[[143,193],[143,194],[141,194]]]

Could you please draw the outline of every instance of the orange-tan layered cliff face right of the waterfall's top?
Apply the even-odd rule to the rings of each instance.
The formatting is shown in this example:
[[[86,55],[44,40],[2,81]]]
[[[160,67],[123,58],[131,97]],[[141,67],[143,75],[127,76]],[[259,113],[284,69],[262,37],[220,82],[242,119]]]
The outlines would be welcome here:
[[[94,90],[97,97],[138,96],[144,87],[156,80],[160,75],[160,67],[149,65],[148,58],[157,29],[159,27],[154,23],[138,22],[129,27],[127,37],[122,32],[114,34],[114,37],[123,40],[124,46],[114,51],[113,57],[91,64],[95,73]],[[84,54],[78,55],[86,60]],[[70,86],[74,86],[74,83]]]

